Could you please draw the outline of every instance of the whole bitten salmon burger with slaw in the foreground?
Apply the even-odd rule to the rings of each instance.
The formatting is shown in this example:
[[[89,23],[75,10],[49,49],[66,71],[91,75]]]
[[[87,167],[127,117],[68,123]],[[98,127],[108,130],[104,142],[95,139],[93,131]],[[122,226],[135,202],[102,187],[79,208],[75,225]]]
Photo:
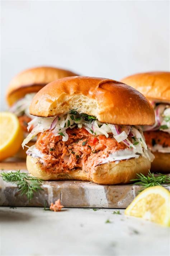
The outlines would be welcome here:
[[[121,82],[66,77],[33,98],[26,145],[28,171],[44,180],[129,183],[147,174],[153,159],[140,125],[152,125],[154,110],[138,91]]]

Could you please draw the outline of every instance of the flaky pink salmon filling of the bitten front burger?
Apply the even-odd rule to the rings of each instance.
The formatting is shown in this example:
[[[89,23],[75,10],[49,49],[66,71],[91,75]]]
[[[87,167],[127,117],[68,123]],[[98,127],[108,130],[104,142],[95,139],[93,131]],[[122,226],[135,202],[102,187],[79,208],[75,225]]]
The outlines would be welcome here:
[[[113,134],[91,135],[84,128],[68,129],[69,139],[62,141],[62,136],[54,136],[51,131],[40,133],[36,148],[44,154],[42,169],[51,173],[69,172],[82,167],[90,171],[99,162],[99,158],[108,157],[109,153],[125,149],[125,144],[118,143]]]

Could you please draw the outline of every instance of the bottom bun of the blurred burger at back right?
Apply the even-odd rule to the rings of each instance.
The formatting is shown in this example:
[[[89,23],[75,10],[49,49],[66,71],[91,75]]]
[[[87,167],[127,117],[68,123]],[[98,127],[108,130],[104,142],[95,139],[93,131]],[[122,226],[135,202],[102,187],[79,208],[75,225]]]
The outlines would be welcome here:
[[[170,173],[170,153],[152,152],[155,156],[151,163],[151,171]]]

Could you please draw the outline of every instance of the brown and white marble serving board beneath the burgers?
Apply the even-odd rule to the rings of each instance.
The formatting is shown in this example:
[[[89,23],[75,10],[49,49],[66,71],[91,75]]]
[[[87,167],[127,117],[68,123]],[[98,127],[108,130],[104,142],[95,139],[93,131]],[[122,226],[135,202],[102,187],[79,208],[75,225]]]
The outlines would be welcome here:
[[[0,163],[0,171],[26,170],[25,162]],[[58,198],[65,207],[126,208],[141,190],[137,185],[98,185],[88,181],[44,181],[31,201],[15,184],[0,178],[0,206],[50,206]],[[170,190],[170,186],[166,187]]]

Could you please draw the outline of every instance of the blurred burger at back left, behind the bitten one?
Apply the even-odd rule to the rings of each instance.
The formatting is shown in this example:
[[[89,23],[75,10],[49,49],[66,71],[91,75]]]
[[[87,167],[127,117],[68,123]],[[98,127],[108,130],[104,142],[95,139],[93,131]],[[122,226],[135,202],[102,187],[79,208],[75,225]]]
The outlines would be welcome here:
[[[49,82],[62,77],[75,75],[75,73],[64,69],[36,67],[26,69],[11,80],[6,93],[6,100],[10,107],[9,110],[18,116],[25,136],[28,134],[28,122],[33,118],[33,116],[29,114],[29,105],[37,91]],[[33,144],[34,142],[29,143],[29,145]],[[19,152],[19,157],[26,158],[26,154],[23,150]]]

